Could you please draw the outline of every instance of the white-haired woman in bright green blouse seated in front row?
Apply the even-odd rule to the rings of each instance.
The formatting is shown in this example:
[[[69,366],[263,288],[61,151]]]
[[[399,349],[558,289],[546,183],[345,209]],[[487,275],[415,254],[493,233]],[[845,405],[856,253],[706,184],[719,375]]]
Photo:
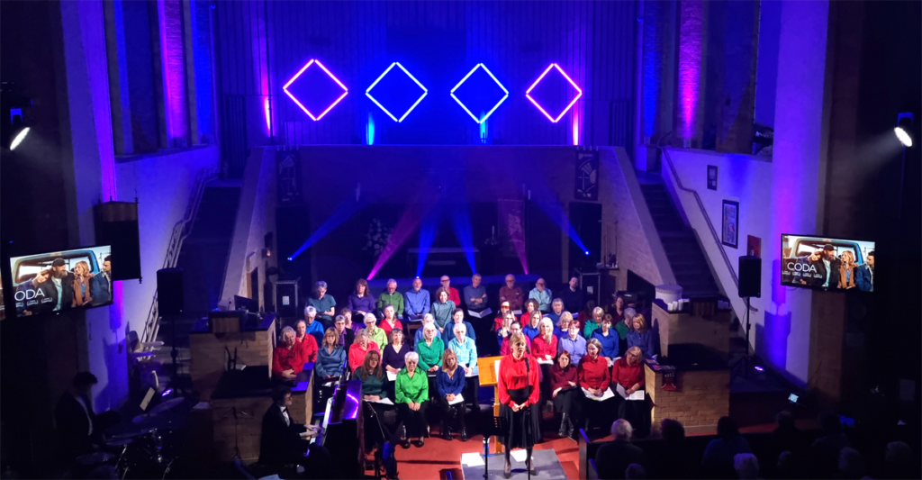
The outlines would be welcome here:
[[[413,445],[422,447],[425,443],[422,437],[426,435],[429,426],[426,425],[426,409],[429,407],[429,381],[426,373],[417,369],[420,363],[420,355],[416,352],[409,352],[407,357],[407,367],[397,373],[395,386],[397,415],[407,427],[407,438],[401,443],[401,447],[408,449],[410,437],[418,437]]]

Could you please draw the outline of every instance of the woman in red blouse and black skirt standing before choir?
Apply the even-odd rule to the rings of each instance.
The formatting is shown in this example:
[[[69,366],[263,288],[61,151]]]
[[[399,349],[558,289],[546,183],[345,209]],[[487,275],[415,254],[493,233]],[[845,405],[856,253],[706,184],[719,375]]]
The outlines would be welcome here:
[[[526,449],[527,465],[531,474],[535,466],[531,462],[532,448],[541,436],[541,409],[538,407],[538,362],[525,353],[525,336],[513,334],[509,338],[512,352],[500,360],[500,377],[497,379],[500,392],[500,415],[509,423],[509,431],[500,436],[505,447],[503,476],[512,474],[509,454],[513,449]]]

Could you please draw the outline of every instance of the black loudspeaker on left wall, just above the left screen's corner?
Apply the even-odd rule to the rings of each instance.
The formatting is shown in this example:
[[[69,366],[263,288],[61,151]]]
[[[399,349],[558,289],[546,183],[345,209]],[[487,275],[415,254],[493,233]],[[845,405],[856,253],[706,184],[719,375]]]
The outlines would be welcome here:
[[[136,202],[96,205],[96,244],[112,247],[112,280],[141,279]]]

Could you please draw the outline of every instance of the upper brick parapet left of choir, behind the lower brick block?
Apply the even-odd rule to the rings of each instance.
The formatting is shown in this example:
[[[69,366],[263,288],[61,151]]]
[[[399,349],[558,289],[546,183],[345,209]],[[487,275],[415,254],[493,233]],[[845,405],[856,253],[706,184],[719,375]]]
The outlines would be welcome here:
[[[203,400],[211,398],[224,373],[227,353],[233,355],[237,349],[237,363],[247,366],[272,364],[272,348],[275,345],[276,322],[267,330],[238,332],[231,334],[192,333],[189,334],[190,366],[192,384]]]

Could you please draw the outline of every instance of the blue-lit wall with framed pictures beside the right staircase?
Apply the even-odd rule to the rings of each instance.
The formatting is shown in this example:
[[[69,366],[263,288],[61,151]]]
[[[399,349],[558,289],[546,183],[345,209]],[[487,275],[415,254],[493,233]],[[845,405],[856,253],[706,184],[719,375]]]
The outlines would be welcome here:
[[[780,252],[768,250],[771,228],[766,219],[772,216],[771,158],[680,148],[668,148],[666,155],[671,159],[675,174],[664,159],[663,180],[680,206],[680,211],[684,212],[691,228],[694,228],[698,239],[701,240],[703,252],[711,263],[717,284],[727,294],[737,316],[745,319],[745,303],[737,295],[737,284],[733,276],[739,265],[739,256],[746,254],[747,236],[762,239],[762,272],[777,261]],[[717,167],[717,190],[707,188],[709,165]],[[680,185],[691,192],[683,190]],[[704,211],[698,205],[695,193],[701,198]],[[738,248],[718,245],[711,228],[707,225],[707,220],[710,220],[717,235],[720,235],[724,200],[739,202]],[[723,254],[727,255],[729,266]],[[764,326],[764,311],[769,304],[767,293],[770,290],[771,284],[763,280],[762,299],[751,299],[751,305],[759,311],[751,312],[752,330],[749,340],[759,353],[764,352],[764,343],[757,333]]]

